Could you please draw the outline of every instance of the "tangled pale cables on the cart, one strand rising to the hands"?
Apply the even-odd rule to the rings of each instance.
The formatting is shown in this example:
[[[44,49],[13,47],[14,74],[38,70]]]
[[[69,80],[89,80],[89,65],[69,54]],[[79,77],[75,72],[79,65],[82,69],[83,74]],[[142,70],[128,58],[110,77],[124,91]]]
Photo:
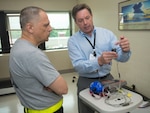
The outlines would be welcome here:
[[[126,90],[122,89],[121,86],[121,75],[119,71],[119,66],[117,62],[117,73],[119,76],[119,86],[117,85],[104,85],[102,87],[102,91],[100,93],[94,93],[92,90],[90,91],[91,96],[96,99],[101,99],[101,97],[105,98],[105,103],[113,106],[113,107],[119,107],[119,106],[128,106],[131,103],[131,96],[129,96],[129,93]]]

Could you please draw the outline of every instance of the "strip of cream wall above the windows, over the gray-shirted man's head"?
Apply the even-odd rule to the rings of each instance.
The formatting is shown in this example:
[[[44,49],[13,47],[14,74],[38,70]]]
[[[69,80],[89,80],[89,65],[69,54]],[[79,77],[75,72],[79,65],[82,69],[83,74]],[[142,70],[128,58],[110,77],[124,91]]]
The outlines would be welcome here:
[[[21,10],[34,5],[48,11],[66,11],[75,3],[76,0],[0,0],[0,10]]]

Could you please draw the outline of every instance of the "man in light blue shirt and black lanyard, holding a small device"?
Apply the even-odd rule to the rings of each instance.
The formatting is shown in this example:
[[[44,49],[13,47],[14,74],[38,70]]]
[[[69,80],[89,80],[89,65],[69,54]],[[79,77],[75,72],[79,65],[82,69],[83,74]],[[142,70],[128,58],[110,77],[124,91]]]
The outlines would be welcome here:
[[[130,58],[130,45],[126,37],[117,37],[109,30],[95,27],[90,7],[77,4],[72,16],[79,31],[68,40],[68,51],[73,67],[79,74],[77,83],[79,113],[94,113],[79,98],[79,92],[96,80],[111,80],[112,60],[126,62]],[[116,49],[116,52],[112,51]]]

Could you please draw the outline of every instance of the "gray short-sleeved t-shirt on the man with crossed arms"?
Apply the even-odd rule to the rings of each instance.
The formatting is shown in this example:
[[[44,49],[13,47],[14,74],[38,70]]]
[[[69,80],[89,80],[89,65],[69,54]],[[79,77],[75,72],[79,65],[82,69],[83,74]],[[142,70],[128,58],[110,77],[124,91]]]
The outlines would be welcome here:
[[[63,97],[45,90],[60,74],[38,47],[18,39],[11,49],[9,68],[16,94],[24,107],[45,109]]]

